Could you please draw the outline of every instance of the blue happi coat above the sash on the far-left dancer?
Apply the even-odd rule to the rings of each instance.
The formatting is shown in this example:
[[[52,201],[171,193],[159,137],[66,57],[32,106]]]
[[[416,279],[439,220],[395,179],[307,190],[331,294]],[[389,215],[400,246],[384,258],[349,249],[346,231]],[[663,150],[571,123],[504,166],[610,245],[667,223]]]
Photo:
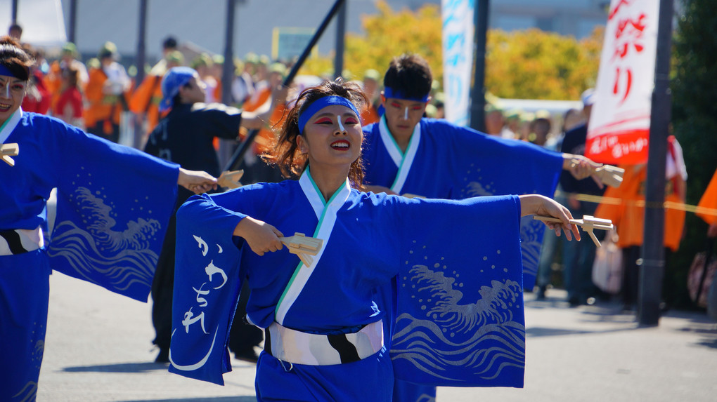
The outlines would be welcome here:
[[[14,167],[0,165],[0,230],[44,225],[57,187],[52,269],[146,301],[179,165],[42,114],[19,110],[6,130],[4,142],[18,143],[19,155]]]

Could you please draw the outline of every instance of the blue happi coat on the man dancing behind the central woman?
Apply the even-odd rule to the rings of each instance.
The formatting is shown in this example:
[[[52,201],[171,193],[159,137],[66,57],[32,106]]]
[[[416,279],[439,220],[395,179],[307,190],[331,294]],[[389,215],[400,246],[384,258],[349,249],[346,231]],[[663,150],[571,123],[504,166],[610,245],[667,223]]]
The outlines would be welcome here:
[[[506,194],[553,197],[563,166],[557,152],[502,139],[440,119],[421,119],[405,155],[386,126],[386,117],[364,127],[366,185],[398,194],[461,200]],[[521,221],[523,286],[532,289],[545,225]]]

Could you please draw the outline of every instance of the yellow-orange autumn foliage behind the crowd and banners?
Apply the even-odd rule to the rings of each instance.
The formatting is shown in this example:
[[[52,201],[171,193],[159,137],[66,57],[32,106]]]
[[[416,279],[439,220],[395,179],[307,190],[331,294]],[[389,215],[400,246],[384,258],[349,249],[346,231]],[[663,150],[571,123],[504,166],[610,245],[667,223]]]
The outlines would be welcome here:
[[[385,1],[378,14],[362,16],[364,35],[347,34],[344,66],[354,79],[366,69],[384,72],[391,58],[412,52],[429,62],[442,84],[442,21],[440,7],[427,4],[394,11]],[[607,19],[607,16],[606,16]],[[602,45],[602,29],[586,39],[538,29],[488,32],[485,87],[501,98],[579,99],[594,86]],[[333,55],[310,59],[303,74],[333,72]]]

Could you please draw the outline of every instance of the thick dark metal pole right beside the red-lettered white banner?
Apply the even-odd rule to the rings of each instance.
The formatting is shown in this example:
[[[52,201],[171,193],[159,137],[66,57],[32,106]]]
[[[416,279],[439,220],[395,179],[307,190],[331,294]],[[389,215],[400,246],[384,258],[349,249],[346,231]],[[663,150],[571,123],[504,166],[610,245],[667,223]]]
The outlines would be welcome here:
[[[665,160],[670,124],[670,46],[672,46],[673,0],[660,0],[657,24],[655,89],[652,92],[650,146],[647,151],[645,194],[645,242],[640,265],[637,318],[640,325],[655,326],[660,320],[660,298],[665,269]]]

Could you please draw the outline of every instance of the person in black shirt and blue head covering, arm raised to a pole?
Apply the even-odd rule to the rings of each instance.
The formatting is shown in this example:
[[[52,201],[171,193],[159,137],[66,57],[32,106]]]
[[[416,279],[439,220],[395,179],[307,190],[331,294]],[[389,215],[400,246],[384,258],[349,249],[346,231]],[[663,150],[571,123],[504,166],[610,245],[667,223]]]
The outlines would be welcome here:
[[[162,101],[160,112],[167,113],[149,134],[145,152],[182,167],[202,166],[206,172],[219,177],[221,167],[214,137],[238,139],[239,129],[264,127],[271,117],[274,106],[285,102],[287,90],[275,88],[272,106],[262,114],[242,112],[224,104],[205,104],[206,87],[196,70],[189,67],[172,67],[161,83]],[[191,193],[179,189],[176,208],[179,208]],[[152,323],[156,330],[153,343],[158,346],[157,362],[169,361],[169,338],[171,331],[172,292],[174,288],[174,243],[175,217],[169,222],[170,229],[165,237],[162,253],[152,283]],[[258,345],[262,340],[260,330],[246,326],[255,335],[249,335],[246,343]],[[245,329],[245,328],[244,328]],[[246,335],[246,334],[243,334]],[[244,343],[245,344],[245,343]],[[253,354],[253,348],[234,350],[237,356],[246,352]]]

